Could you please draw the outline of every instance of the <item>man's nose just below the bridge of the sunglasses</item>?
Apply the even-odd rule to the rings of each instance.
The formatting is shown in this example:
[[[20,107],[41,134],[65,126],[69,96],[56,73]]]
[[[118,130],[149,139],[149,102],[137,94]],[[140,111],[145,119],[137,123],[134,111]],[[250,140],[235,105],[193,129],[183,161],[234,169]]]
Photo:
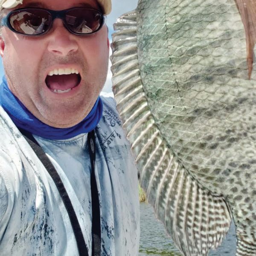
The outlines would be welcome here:
[[[49,33],[48,50],[59,56],[67,56],[76,52],[78,44],[76,36],[71,34],[65,27],[61,19],[55,19]]]

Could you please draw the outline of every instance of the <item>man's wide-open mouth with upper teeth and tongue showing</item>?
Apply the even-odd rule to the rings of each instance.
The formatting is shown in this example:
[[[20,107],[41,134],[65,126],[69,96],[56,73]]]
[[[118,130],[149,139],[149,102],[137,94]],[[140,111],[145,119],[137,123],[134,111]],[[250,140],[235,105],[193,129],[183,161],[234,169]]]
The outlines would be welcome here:
[[[50,71],[45,79],[47,87],[54,93],[68,93],[81,82],[78,70],[59,68]]]

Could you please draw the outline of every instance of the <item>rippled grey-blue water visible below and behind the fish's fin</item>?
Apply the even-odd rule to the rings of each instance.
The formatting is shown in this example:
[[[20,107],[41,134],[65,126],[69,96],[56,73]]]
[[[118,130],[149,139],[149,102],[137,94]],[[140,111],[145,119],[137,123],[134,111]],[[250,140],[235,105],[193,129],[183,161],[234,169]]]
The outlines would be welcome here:
[[[140,252],[139,256],[182,256],[173,241],[166,235],[163,224],[154,216],[149,204],[140,204]],[[235,225],[231,224],[226,239],[209,256],[235,256],[236,235]]]

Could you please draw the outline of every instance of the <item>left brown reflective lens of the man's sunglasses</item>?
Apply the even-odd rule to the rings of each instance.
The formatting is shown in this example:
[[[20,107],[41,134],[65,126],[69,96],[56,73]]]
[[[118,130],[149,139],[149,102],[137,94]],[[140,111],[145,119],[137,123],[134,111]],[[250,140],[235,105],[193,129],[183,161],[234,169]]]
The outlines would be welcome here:
[[[23,9],[9,17],[12,28],[24,35],[43,34],[51,23],[51,15],[45,10]]]

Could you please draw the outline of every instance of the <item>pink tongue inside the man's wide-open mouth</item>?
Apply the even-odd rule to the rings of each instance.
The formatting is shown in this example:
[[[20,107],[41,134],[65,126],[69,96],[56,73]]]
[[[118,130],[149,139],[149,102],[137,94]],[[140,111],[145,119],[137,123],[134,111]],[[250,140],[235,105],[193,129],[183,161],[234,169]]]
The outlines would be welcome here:
[[[68,90],[79,84],[77,74],[47,76],[46,84],[51,90]]]

